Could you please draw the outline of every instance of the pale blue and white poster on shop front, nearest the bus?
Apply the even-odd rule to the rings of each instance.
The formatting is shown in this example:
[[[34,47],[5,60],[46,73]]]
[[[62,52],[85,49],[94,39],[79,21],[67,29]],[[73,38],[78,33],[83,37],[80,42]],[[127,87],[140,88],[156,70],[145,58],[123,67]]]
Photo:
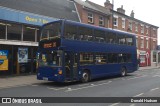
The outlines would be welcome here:
[[[28,48],[18,48],[18,63],[28,62]]]

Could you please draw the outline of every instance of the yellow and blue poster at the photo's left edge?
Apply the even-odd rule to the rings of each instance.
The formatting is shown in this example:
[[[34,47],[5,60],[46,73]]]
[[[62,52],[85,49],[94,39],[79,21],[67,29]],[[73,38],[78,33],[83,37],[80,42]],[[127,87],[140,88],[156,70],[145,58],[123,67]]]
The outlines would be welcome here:
[[[0,71],[8,70],[8,50],[0,50]]]

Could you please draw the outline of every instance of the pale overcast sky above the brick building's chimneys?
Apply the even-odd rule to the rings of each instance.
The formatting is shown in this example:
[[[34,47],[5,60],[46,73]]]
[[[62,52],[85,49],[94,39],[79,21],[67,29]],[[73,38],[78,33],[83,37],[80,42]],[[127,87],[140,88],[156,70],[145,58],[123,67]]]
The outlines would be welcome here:
[[[85,0],[83,0],[85,1]],[[104,6],[106,0],[89,0]],[[125,14],[130,16],[133,10],[136,19],[160,27],[160,0],[113,0],[114,10],[121,7],[125,9]],[[112,3],[112,0],[110,0]],[[160,45],[160,29],[158,30],[158,44]]]

